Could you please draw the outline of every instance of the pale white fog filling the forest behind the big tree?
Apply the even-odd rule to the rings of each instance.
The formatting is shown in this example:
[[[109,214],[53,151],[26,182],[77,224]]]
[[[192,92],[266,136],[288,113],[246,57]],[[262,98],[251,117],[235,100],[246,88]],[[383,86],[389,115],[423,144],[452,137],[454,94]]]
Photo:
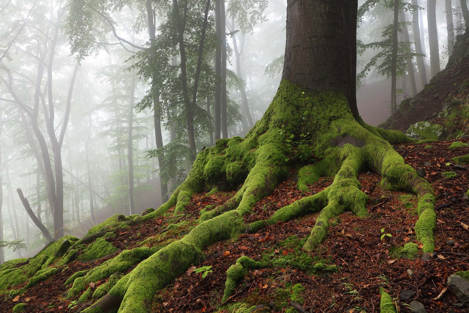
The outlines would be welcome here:
[[[218,44],[213,3],[204,23],[207,1],[189,2],[184,56],[174,41],[173,1],[0,3],[0,263],[35,254],[48,236],[83,237],[113,214],[157,208],[182,183],[198,151],[217,136],[243,137],[262,117],[280,83],[287,1],[227,1],[221,16],[226,49]],[[448,32],[445,1],[437,2],[443,69]],[[426,8],[426,0],[419,5]],[[459,5],[453,1],[456,34],[464,29]],[[421,13],[430,78],[427,10]],[[381,40],[392,20],[392,10],[372,8],[358,38]],[[217,53],[227,55],[226,80],[217,72]],[[359,55],[358,71],[376,53]],[[360,113],[373,125],[390,115],[386,78],[372,68],[357,91]],[[401,84],[400,99],[412,95],[409,84]]]

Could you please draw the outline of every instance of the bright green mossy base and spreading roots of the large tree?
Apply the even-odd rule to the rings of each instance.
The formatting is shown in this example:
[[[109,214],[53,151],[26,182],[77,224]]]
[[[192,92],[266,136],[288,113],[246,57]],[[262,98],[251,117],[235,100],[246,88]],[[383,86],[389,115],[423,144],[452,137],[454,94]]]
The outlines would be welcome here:
[[[287,146],[287,138],[292,138],[293,146]],[[295,146],[299,138],[307,139],[312,151],[311,159],[320,160],[303,169],[300,176],[304,179],[300,185],[306,186],[320,176],[334,176],[333,184],[324,191],[281,208],[266,221],[245,225],[243,215],[287,176],[288,168],[296,159],[295,151],[301,148]],[[68,295],[76,297],[85,290],[88,282],[107,278],[141,261],[129,274],[114,279],[106,289],[103,287],[96,296],[93,295],[94,299],[102,298],[83,312],[149,312],[155,292],[184,272],[191,263],[198,263],[206,245],[228,239],[246,229],[255,231],[277,221],[285,222],[310,212],[320,212],[311,236],[303,246],[311,250],[324,240],[328,222],[334,216],[344,210],[351,210],[359,216],[367,214],[365,204],[368,197],[360,190],[357,179],[358,173],[364,169],[380,173],[387,188],[409,191],[418,196],[416,235],[424,244],[424,252],[432,252],[436,216],[431,185],[406,165],[390,145],[410,141],[399,131],[382,130],[361,120],[356,121],[345,96],[337,92],[305,93],[284,80],[271,106],[246,137],[220,139],[215,146],[200,152],[186,181],[165,204],[143,217],[110,218],[91,229],[88,235],[125,223],[147,221],[165,214],[172,206],[175,206],[175,212],[183,212],[196,192],[232,190],[240,185],[233,198],[221,206],[202,210],[200,223],[180,240],[161,249],[135,248],[122,252],[100,267],[76,275],[73,282],[67,282],[73,283]],[[124,260],[126,253],[131,254],[132,261]],[[240,266],[232,274],[243,273],[244,267]],[[232,276],[236,280],[239,275]],[[91,293],[86,297],[90,296]]]

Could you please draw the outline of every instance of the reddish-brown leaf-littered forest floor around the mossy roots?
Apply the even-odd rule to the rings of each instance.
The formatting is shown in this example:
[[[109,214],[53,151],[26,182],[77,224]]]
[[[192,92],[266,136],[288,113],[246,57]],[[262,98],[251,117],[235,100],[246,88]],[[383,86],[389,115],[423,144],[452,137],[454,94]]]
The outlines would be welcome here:
[[[467,139],[461,140],[468,142]],[[459,270],[469,270],[469,207],[464,193],[468,190],[469,169],[456,165],[455,156],[469,153],[469,148],[451,150],[453,141],[395,146],[404,160],[418,169],[429,181],[437,195],[435,252],[431,260],[402,258],[398,247],[416,241],[414,226],[416,197],[404,192],[388,191],[381,187],[381,176],[362,173],[362,190],[370,197],[369,216],[360,218],[345,212],[332,221],[325,241],[314,252],[301,249],[310,234],[318,214],[279,222],[260,229],[256,234],[241,234],[237,238],[212,244],[204,249],[205,258],[189,267],[165,289],[159,290],[152,304],[153,312],[228,312],[236,304],[257,305],[254,312],[284,312],[289,308],[292,292],[307,312],[379,312],[379,289],[385,288],[401,312],[411,312],[407,303],[422,302],[428,312],[469,312],[447,289],[446,279]],[[454,179],[442,178],[453,171]],[[332,183],[323,177],[310,185],[312,193]],[[280,207],[308,196],[295,189],[292,178],[281,183],[270,196],[259,201],[245,222],[266,219]],[[197,224],[199,211],[207,205],[220,205],[233,192],[217,192],[210,196],[196,194],[186,206],[185,214],[169,215],[116,232],[108,240],[119,250],[142,245],[145,238],[180,238]],[[187,221],[187,222],[181,222]],[[176,225],[176,226],[172,226]],[[161,238],[160,238],[161,239]],[[146,244],[152,244],[151,240]],[[24,312],[80,312],[91,301],[76,304],[67,299],[66,279],[73,273],[102,264],[114,255],[90,262],[73,261],[53,276],[16,298],[0,298],[0,312],[11,312],[19,302],[27,303]],[[241,256],[254,260],[270,260],[272,267],[250,270],[240,282],[236,293],[226,305],[219,307],[229,266]],[[337,271],[324,272],[311,264],[337,266]],[[194,269],[211,267],[208,275],[194,273]],[[135,267],[135,266],[134,266]],[[127,273],[134,267],[128,269]],[[125,274],[125,273],[124,273]],[[106,280],[96,282],[97,288]],[[293,286],[301,287],[298,289]],[[21,286],[20,286],[21,287]],[[293,291],[292,291],[293,290]],[[295,291],[296,290],[296,291]],[[18,302],[19,301],[19,302]],[[73,302],[72,302],[73,301]],[[363,311],[362,311],[363,310]]]

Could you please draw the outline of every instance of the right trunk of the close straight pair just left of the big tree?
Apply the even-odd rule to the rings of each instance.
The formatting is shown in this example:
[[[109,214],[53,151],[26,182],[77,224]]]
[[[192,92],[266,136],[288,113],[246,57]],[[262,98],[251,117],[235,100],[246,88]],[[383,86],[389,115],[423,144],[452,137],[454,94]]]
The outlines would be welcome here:
[[[221,34],[221,132],[223,138],[228,137],[227,121],[227,28],[225,0],[220,0],[220,34]]]

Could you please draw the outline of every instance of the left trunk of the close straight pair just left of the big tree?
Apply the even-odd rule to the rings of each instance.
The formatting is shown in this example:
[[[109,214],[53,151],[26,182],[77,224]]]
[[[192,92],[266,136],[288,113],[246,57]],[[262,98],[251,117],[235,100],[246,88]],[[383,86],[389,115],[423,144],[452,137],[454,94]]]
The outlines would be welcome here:
[[[215,141],[221,137],[221,5],[220,1],[215,0],[215,28],[217,36],[217,44],[215,46],[215,103],[213,113],[215,115]],[[224,21],[225,19],[223,19]]]

